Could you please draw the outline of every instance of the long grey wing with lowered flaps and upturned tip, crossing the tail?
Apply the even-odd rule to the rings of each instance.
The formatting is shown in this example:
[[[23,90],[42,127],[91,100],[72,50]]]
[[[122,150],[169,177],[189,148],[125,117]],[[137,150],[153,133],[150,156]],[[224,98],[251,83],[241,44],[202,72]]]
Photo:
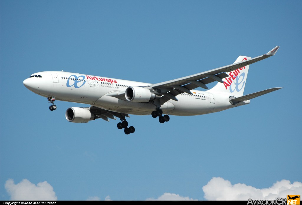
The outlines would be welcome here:
[[[273,56],[275,55],[278,49],[279,46],[276,46],[275,48],[273,48],[268,53],[262,56],[258,56],[241,62],[236,62],[228,66],[223,66],[217,69],[197,73],[194,75],[189,75],[183,78],[177,78],[166,82],[156,83],[153,84],[152,87],[159,95],[162,95],[160,99],[161,104],[165,103],[166,101],[169,101],[170,99],[177,101],[177,98],[175,96],[177,96],[178,94],[184,92],[192,94],[190,90],[198,87],[208,89],[206,84],[214,81],[223,83],[222,78],[229,77],[226,72],[239,69],[254,62],[258,62],[260,60]]]

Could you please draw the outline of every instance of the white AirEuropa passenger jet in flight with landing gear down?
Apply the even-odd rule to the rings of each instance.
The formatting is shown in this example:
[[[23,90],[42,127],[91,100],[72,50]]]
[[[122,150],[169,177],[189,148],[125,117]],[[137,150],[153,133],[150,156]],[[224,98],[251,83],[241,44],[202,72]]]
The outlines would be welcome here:
[[[275,55],[279,46],[258,57],[239,56],[233,64],[206,72],[160,83],[144,83],[62,71],[43,71],[23,81],[30,91],[46,97],[50,111],[56,110],[55,100],[89,104],[90,107],[70,107],[66,120],[87,123],[108,118],[116,120],[118,129],[134,133],[128,127],[129,114],[149,115],[168,122],[169,115],[192,116],[209,114],[250,103],[250,99],[281,89],[243,95],[249,65]],[[208,89],[207,84],[217,82]],[[207,91],[194,90],[203,88]],[[164,115],[163,115],[164,114]]]

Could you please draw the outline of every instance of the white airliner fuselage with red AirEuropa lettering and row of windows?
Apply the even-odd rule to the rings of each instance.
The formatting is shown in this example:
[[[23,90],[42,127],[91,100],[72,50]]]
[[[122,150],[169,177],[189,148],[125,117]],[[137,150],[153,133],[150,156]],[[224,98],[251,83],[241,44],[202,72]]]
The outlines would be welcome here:
[[[114,91],[125,91],[130,86],[152,85],[150,83],[63,71],[37,72],[23,83],[29,90],[44,97],[53,96],[56,100],[90,104],[119,113],[149,115],[157,108],[150,102],[131,102],[107,95]],[[189,116],[238,106],[230,103],[229,94],[199,90],[191,92],[193,95],[187,93],[177,95],[178,101],[169,100],[162,104],[160,109],[165,114]]]

